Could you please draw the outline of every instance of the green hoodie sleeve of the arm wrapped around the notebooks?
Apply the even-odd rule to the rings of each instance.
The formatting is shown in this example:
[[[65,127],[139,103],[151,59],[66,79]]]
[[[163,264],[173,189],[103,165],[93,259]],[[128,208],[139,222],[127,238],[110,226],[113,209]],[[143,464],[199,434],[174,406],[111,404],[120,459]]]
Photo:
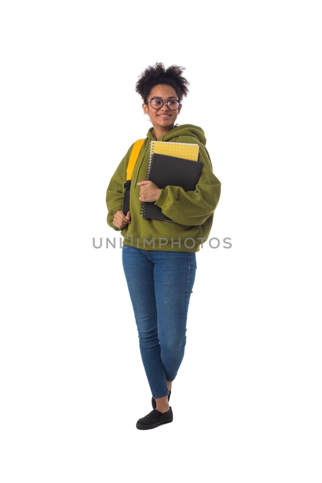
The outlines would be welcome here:
[[[177,142],[196,143],[187,137]],[[213,174],[209,153],[199,144],[199,158],[202,162],[200,176],[194,191],[184,191],[181,186],[166,186],[161,189],[159,198],[154,202],[166,216],[181,225],[202,225],[215,211],[221,193],[221,182]]]

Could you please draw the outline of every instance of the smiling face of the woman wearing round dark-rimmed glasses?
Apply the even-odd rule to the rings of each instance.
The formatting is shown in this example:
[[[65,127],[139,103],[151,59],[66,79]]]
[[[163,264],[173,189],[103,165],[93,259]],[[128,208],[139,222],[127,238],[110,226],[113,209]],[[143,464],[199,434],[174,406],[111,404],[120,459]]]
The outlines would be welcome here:
[[[173,87],[170,85],[155,85],[153,89],[151,89],[149,99],[151,98],[159,98],[162,100],[171,100],[171,99],[178,99],[177,93],[174,90]],[[160,102],[160,105],[162,103]],[[151,103],[148,102],[147,104],[142,104],[143,111],[145,114],[149,114],[149,117],[151,119],[151,122],[153,124],[153,127],[157,127],[159,129],[164,129],[164,128],[170,128],[172,125],[174,125],[178,114],[180,113],[180,110],[182,108],[182,104],[179,104],[178,109],[171,110],[168,108],[166,102],[164,102],[163,106],[160,107],[159,109],[154,109],[151,106]]]

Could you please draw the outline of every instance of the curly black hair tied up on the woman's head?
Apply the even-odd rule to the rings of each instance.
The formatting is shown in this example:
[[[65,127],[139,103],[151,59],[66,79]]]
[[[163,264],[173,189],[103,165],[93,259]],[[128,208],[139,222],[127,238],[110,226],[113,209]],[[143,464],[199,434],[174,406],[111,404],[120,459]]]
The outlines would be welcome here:
[[[165,69],[163,62],[155,62],[154,66],[149,65],[145,71],[141,72],[135,90],[140,94],[144,104],[147,104],[154,85],[171,85],[177,93],[179,102],[181,102],[182,97],[189,92],[187,85],[190,85],[187,79],[182,77],[184,69],[185,67],[179,65],[171,65],[168,69]]]

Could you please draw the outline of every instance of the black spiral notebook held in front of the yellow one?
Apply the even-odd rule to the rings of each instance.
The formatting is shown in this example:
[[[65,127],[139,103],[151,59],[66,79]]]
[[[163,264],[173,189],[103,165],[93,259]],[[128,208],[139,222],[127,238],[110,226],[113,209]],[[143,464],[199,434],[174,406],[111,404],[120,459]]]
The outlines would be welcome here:
[[[181,157],[154,153],[148,168],[146,179],[151,180],[158,188],[181,186],[184,191],[194,191],[198,183],[202,163]],[[140,214],[144,218],[173,221],[164,215],[154,201],[141,201]]]

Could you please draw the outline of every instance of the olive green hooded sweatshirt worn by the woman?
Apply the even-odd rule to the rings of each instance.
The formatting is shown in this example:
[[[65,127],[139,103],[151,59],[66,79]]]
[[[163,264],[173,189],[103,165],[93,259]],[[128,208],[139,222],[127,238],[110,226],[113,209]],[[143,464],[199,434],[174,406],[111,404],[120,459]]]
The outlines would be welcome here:
[[[121,231],[124,245],[132,245],[142,250],[198,252],[200,244],[209,237],[213,212],[221,192],[221,182],[212,172],[210,156],[205,147],[205,133],[198,126],[182,124],[176,125],[157,140],[199,144],[198,161],[203,165],[196,189],[185,192],[180,186],[168,185],[161,189],[161,194],[154,203],[175,223],[143,218],[140,214],[140,186],[137,182],[146,179],[151,140],[155,141],[153,127],[148,130],[132,174],[129,208],[131,222],[124,228],[117,228],[112,224],[114,214],[123,208],[126,168],[134,142],[116,168],[106,191],[107,224],[114,230]]]

